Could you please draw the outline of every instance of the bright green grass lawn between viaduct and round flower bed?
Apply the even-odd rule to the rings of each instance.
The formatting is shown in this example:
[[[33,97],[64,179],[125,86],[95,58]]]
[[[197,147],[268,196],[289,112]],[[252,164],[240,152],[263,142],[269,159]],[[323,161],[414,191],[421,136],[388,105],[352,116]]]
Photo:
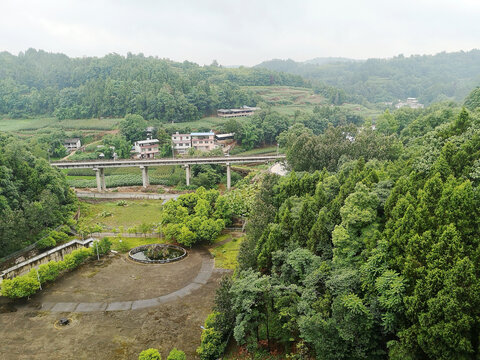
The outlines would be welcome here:
[[[158,223],[162,200],[126,200],[127,206],[118,206],[119,201],[82,202],[82,219],[86,225],[101,224],[105,229],[124,231],[142,223]]]

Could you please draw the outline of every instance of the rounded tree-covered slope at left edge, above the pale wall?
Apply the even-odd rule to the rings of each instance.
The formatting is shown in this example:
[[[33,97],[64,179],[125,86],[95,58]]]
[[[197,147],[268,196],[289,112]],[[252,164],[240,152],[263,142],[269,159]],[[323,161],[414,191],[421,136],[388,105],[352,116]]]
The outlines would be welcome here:
[[[0,133],[0,257],[66,222],[75,203],[58,169]]]

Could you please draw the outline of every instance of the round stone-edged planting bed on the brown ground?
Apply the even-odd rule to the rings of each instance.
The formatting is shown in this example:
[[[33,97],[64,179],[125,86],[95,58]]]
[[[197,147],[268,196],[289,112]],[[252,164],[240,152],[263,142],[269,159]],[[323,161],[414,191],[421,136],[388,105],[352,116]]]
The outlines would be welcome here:
[[[183,259],[187,251],[177,245],[149,244],[133,248],[128,257],[144,264],[164,264]]]

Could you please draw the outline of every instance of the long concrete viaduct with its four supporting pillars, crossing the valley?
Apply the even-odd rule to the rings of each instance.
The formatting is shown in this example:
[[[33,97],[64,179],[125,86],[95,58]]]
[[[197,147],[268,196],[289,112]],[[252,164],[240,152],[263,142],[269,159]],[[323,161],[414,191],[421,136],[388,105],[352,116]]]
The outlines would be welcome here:
[[[268,163],[284,160],[285,155],[274,156],[225,156],[225,157],[199,157],[178,159],[152,159],[152,160],[94,160],[75,162],[51,163],[59,169],[92,169],[96,173],[98,191],[106,190],[105,168],[139,167],[142,170],[143,187],[150,185],[148,168],[151,166],[181,165],[186,170],[187,185],[190,185],[190,166],[204,164],[225,164],[227,166],[227,189],[231,187],[231,164]]]

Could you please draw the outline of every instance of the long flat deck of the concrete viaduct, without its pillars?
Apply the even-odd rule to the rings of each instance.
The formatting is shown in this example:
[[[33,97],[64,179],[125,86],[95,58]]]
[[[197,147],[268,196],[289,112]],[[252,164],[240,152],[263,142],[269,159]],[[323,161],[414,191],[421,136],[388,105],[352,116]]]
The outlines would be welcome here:
[[[52,166],[60,169],[92,169],[107,167],[132,167],[132,166],[164,166],[164,165],[194,165],[194,164],[240,164],[285,159],[285,155],[274,156],[224,156],[178,159],[152,159],[152,160],[93,160],[75,162],[54,162]]]

